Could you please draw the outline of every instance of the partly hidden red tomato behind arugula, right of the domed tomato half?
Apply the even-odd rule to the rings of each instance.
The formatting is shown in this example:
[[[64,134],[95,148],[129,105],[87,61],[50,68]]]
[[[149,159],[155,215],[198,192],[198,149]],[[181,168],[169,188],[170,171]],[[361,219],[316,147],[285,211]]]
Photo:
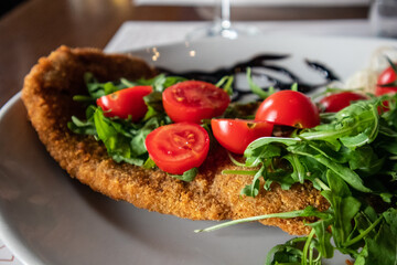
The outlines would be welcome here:
[[[342,92],[332,94],[320,100],[320,106],[324,113],[337,113],[351,105],[351,102],[365,100],[366,96],[353,92]]]

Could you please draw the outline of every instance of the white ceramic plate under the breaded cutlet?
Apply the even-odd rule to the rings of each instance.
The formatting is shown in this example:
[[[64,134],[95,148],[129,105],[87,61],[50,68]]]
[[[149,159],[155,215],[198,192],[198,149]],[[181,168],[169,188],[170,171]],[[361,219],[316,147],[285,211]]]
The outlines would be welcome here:
[[[345,78],[386,44],[397,46],[387,40],[279,35],[182,43],[136,54],[151,61],[154,51],[160,56],[152,63],[185,71],[214,70],[258,53],[288,53],[293,56],[280,64],[304,78],[319,78],[302,64],[305,57]],[[1,109],[0,237],[24,264],[262,264],[273,245],[290,239],[256,223],[193,233],[213,224],[147,212],[93,192],[47,155],[19,95]]]

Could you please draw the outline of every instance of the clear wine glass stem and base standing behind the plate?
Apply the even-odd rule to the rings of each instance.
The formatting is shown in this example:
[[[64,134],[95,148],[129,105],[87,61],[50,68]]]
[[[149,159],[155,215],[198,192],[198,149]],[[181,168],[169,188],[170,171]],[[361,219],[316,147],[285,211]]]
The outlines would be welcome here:
[[[218,15],[221,10],[221,15]],[[251,25],[237,26],[230,21],[230,0],[216,0],[214,7],[214,20],[210,25],[194,29],[186,35],[187,41],[203,38],[221,36],[225,39],[237,39],[243,35],[257,35],[259,30]]]

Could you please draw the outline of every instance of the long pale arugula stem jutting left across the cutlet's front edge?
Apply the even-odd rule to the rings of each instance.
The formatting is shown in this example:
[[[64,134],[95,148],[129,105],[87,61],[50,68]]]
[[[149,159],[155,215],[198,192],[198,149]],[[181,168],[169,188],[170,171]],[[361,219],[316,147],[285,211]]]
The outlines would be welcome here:
[[[269,214],[264,214],[264,215],[258,215],[258,216],[251,216],[251,218],[246,218],[246,219],[238,219],[238,220],[233,220],[226,223],[221,223],[221,224],[216,224],[206,229],[202,229],[202,230],[195,230],[195,233],[200,233],[200,232],[211,232],[214,230],[218,230],[218,229],[224,229],[230,225],[235,225],[235,224],[239,224],[239,223],[248,223],[248,222],[254,222],[254,221],[259,221],[259,220],[265,220],[265,219],[270,219],[270,218],[280,218],[280,219],[290,219],[290,218],[299,218],[301,216],[301,214],[304,212],[304,210],[298,210],[298,211],[292,211],[292,212],[283,212],[283,213],[269,213]]]

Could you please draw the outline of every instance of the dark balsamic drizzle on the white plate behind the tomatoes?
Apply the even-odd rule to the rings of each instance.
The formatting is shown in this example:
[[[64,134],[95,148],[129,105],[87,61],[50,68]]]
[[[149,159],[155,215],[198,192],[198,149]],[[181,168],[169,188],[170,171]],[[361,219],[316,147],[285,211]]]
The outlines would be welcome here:
[[[289,71],[287,67],[275,64],[279,61],[287,60],[288,57],[290,57],[290,55],[261,54],[248,61],[236,63],[230,67],[222,67],[212,72],[190,71],[183,73],[175,73],[163,67],[158,67],[158,71],[167,75],[178,75],[178,76],[183,76],[187,80],[200,80],[216,84],[222,77],[226,75],[236,76],[238,74],[245,74],[247,72],[247,68],[250,67],[253,77],[266,78],[269,83],[271,83],[271,86],[275,87],[276,89],[280,89],[280,91],[290,89],[291,85],[297,83],[298,91],[302,93],[310,93],[319,87],[323,87],[330,84],[333,81],[339,81],[339,77],[324,64],[305,60],[304,61],[305,65],[312,68],[313,71],[318,72],[324,78],[324,81],[320,84],[310,84],[302,82],[298,75]],[[280,75],[285,76],[286,78],[278,77]],[[236,83],[237,82],[234,82],[233,84],[234,86],[233,87],[234,95],[232,97],[233,100],[239,100],[243,96],[251,94],[249,89],[244,89],[242,87],[238,87]],[[267,91],[269,89],[269,87],[270,86],[266,86],[261,88],[264,91]]]

